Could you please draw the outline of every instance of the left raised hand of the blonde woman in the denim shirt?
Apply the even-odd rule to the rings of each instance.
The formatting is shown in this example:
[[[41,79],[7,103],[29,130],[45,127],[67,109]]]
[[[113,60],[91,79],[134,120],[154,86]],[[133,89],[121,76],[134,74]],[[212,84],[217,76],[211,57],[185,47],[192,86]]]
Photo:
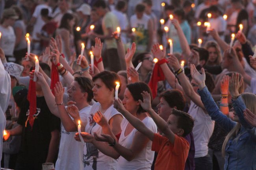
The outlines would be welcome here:
[[[204,68],[201,69],[202,74],[197,71],[194,64],[190,64],[190,74],[192,78],[197,82],[199,89],[202,90],[205,87],[205,72]]]

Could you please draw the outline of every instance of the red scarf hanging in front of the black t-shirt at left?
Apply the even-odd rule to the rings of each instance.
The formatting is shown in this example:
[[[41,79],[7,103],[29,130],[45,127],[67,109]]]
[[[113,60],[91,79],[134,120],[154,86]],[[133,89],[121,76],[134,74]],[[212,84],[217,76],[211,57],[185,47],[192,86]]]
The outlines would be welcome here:
[[[34,124],[33,115],[37,112],[37,96],[35,94],[35,82],[33,81],[33,79],[30,79],[30,82],[29,82],[27,99],[29,101],[28,122],[30,123],[31,128],[33,128],[33,124]]]

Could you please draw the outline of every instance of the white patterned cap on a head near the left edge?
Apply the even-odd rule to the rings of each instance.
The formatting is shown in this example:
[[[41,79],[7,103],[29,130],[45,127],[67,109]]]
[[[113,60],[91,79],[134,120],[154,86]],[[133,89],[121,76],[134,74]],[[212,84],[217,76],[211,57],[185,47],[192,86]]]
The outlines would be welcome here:
[[[6,62],[4,63],[4,69],[9,73],[9,75],[19,80],[24,67],[14,62]]]

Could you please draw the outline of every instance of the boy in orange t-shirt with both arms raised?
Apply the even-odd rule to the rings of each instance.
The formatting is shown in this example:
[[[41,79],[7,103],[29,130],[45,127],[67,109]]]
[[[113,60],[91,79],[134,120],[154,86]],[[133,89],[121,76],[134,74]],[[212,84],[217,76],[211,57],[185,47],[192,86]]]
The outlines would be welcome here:
[[[151,108],[150,94],[143,91],[141,95],[143,96],[143,102],[139,100],[141,107],[150,114],[164,136],[152,132],[141,120],[130,114],[120,99],[115,100],[114,107],[124,115],[134,128],[152,141],[152,150],[158,152],[155,170],[184,170],[189,143],[183,137],[192,131],[194,120],[189,114],[173,109],[168,121],[165,122]]]

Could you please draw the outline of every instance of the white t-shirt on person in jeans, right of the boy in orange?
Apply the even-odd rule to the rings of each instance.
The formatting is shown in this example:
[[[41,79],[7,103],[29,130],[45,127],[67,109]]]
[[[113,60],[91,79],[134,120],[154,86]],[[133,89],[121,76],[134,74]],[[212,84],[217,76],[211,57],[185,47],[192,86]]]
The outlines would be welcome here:
[[[214,121],[208,114],[205,114],[202,108],[198,107],[192,101],[187,112],[193,119],[193,136],[195,143],[195,157],[204,157],[208,154],[208,142],[213,133]]]

